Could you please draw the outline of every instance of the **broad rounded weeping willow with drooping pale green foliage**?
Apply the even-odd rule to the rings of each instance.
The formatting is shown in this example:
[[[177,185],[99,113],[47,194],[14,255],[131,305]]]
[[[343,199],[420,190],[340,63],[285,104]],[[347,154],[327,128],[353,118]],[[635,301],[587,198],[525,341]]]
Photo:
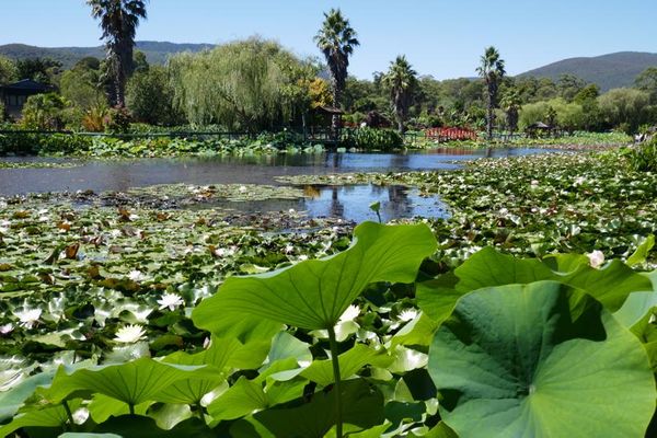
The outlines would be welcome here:
[[[290,119],[303,93],[293,85],[306,71],[274,42],[250,38],[169,62],[174,104],[196,125],[257,131]]]

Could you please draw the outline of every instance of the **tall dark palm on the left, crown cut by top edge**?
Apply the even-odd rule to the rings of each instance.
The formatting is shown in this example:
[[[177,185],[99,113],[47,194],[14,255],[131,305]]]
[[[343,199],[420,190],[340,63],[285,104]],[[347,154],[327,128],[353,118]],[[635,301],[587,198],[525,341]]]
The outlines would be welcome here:
[[[87,0],[91,15],[101,21],[107,64],[114,82],[113,101],[125,106],[126,81],[132,73],[132,49],[139,19],[146,19],[148,0]]]

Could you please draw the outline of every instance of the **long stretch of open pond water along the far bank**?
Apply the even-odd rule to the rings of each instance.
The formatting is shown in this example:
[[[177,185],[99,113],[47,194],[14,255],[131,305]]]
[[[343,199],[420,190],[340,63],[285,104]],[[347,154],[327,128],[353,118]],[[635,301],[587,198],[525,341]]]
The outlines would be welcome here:
[[[11,162],[55,162],[72,168],[0,169],[0,196],[45,192],[127,191],[155,184],[276,184],[275,176],[337,172],[450,170],[459,161],[514,157],[546,149],[434,149],[407,153],[298,153],[139,160],[54,160],[0,158]]]

